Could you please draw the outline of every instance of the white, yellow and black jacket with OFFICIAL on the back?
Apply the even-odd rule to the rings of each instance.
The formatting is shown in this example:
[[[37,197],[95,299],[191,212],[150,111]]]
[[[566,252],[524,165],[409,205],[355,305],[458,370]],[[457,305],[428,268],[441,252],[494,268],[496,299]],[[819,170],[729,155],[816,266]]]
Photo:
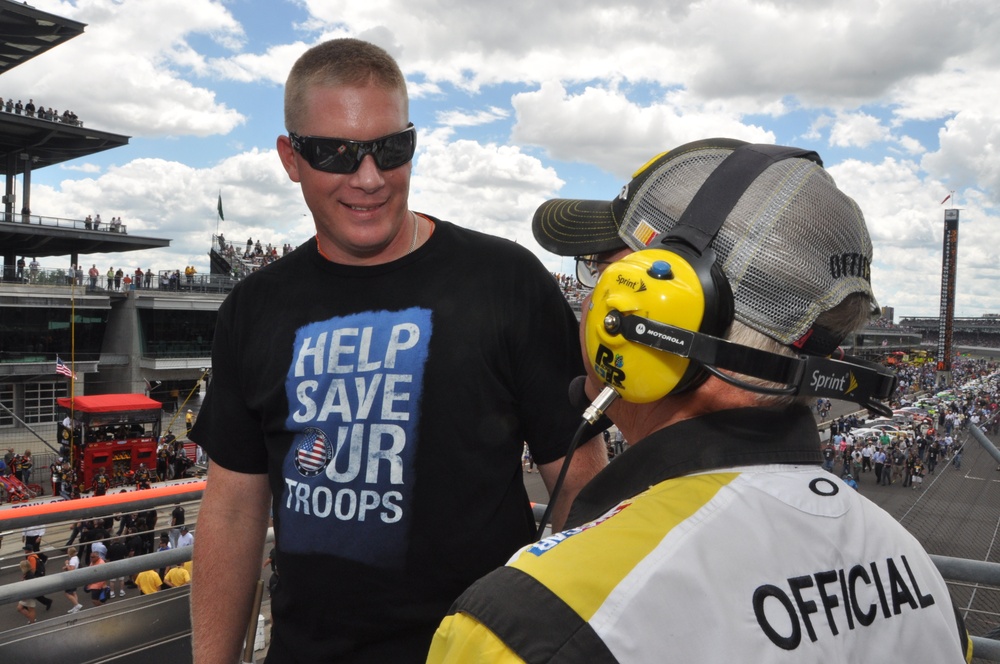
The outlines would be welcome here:
[[[428,662],[968,662],[937,568],[819,467],[805,408],[656,432],[467,590]]]

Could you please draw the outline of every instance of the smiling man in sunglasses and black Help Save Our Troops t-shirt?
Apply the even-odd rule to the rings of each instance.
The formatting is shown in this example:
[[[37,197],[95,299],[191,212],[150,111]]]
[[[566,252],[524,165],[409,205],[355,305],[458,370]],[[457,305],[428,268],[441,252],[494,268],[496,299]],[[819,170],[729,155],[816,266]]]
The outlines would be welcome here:
[[[479,576],[531,540],[526,441],[554,485],[580,411],[576,320],[523,247],[408,206],[416,130],[382,49],[333,40],[285,91],[277,149],[316,237],[219,311],[190,437],[211,472],[195,661],[236,661],[272,508],[268,662],[422,662]],[[606,463],[579,450],[554,523]],[[237,545],[238,543],[238,545]]]

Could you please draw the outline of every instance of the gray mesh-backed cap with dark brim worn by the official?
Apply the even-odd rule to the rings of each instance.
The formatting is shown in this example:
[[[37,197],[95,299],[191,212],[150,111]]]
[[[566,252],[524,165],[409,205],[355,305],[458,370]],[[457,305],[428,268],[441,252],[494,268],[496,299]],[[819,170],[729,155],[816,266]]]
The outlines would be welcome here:
[[[547,201],[535,212],[535,238],[563,256],[645,249],[744,145],[707,139],[658,155],[611,202]],[[783,159],[757,176],[710,246],[732,285],[736,320],[784,345],[801,345],[816,318],[852,293],[877,306],[864,216],[810,159]]]

